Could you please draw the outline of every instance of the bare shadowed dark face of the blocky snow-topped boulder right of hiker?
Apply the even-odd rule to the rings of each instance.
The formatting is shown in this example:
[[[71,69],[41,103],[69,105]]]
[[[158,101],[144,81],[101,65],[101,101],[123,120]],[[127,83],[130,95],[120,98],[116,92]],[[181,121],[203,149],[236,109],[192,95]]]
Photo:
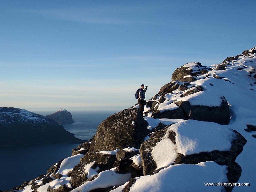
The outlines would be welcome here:
[[[225,97],[221,97],[220,106],[191,105],[189,101],[178,101],[175,104],[183,109],[187,119],[219,124],[228,124],[230,120],[229,105]]]

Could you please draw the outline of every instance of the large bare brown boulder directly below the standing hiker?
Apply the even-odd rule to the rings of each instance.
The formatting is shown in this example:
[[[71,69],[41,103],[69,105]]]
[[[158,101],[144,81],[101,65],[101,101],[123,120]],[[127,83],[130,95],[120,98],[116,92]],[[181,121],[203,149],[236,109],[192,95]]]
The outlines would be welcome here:
[[[147,122],[138,109],[125,109],[109,116],[98,127],[90,151],[140,148],[147,135]]]

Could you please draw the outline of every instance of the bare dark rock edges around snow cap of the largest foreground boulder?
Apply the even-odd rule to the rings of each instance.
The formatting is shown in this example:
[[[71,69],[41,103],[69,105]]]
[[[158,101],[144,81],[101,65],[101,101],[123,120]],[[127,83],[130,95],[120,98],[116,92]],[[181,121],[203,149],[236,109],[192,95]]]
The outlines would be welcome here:
[[[206,127],[207,129],[207,127]],[[163,139],[166,133],[166,128],[160,131],[155,132],[148,140],[144,141],[140,148],[141,154],[141,164],[143,166],[144,175],[150,175],[156,169],[156,163],[152,157],[152,148]],[[214,150],[211,152],[201,152],[191,155],[178,154],[176,160],[173,164],[198,164],[200,162],[206,161],[215,161],[220,165],[229,165],[231,162],[234,162],[236,157],[242,152],[243,146],[246,144],[246,139],[238,132],[236,133],[235,138],[231,142],[231,147],[229,151],[218,151]],[[173,130],[168,131],[168,138],[176,144],[175,136],[176,133]]]

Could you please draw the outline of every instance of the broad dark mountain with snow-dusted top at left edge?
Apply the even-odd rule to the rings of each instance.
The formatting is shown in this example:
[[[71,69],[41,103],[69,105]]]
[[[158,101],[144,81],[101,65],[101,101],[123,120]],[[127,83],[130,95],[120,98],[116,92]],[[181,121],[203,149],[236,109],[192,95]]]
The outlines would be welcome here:
[[[13,107],[0,107],[0,133],[0,146],[83,142],[53,120]]]

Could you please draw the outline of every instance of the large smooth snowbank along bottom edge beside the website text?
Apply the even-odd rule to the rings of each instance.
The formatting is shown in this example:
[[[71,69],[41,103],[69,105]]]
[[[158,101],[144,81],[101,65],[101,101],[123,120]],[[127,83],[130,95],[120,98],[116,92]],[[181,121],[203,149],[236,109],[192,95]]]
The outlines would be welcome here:
[[[226,173],[227,166],[212,161],[171,165],[154,175],[136,177],[130,192],[224,191],[222,186],[205,186],[204,183],[227,182]]]

